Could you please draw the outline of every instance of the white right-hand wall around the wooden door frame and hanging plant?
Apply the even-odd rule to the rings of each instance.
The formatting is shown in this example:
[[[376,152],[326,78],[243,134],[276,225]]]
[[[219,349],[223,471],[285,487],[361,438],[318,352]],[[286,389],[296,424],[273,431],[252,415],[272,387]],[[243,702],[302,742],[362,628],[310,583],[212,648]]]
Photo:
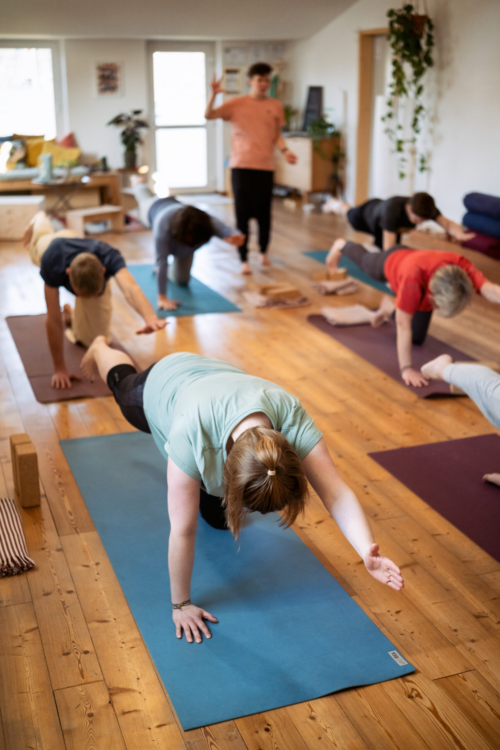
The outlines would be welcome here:
[[[322,31],[287,48],[295,106],[304,107],[307,86],[324,86],[327,114],[343,127],[349,202],[355,192],[358,31],[387,26],[387,10],[395,5],[358,0]],[[500,193],[500,2],[428,5],[436,26],[436,66],[427,81],[431,171],[419,175],[417,187],[429,190],[445,215],[460,220],[465,193]]]

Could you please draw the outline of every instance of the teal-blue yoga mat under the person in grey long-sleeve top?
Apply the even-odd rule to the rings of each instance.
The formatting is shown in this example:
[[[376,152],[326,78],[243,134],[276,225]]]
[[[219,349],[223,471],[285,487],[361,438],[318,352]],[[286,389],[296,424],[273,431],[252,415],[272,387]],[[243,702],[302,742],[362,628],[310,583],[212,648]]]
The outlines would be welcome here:
[[[158,287],[153,266],[147,263],[139,266],[127,266],[127,269],[156,310]],[[205,287],[205,284],[202,284],[193,276],[191,276],[187,287],[179,287],[169,281],[167,294],[169,299],[177,299],[181,305],[177,310],[157,311],[160,318],[184,317],[185,315],[201,315],[204,313],[241,313],[241,309],[229,302],[229,299],[217,294],[213,289]]]

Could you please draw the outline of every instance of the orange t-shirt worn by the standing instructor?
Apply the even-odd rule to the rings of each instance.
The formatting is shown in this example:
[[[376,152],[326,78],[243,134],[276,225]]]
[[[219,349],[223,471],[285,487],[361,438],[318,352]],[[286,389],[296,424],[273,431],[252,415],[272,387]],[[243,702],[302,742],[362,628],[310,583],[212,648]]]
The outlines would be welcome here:
[[[274,144],[285,124],[283,105],[269,97],[238,96],[213,111],[232,124],[229,166],[274,172]]]

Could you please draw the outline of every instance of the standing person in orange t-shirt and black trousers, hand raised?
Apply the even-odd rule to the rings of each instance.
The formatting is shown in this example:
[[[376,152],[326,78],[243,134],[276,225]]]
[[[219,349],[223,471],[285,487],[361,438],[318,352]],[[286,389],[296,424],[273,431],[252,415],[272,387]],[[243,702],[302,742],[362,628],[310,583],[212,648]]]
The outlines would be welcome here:
[[[266,251],[271,230],[274,147],[283,152],[288,163],[295,164],[297,160],[281,135],[281,127],[285,124],[283,105],[267,95],[271,86],[270,74],[270,65],[256,62],[248,71],[250,94],[228,99],[215,110],[215,97],[224,89],[214,76],[211,97],[205,110],[207,120],[221,117],[232,124],[229,166],[235,194],[236,223],[246,237],[244,244],[238,248],[244,274],[252,273],[247,262],[248,221],[251,218],[259,222],[261,265],[270,265]]]

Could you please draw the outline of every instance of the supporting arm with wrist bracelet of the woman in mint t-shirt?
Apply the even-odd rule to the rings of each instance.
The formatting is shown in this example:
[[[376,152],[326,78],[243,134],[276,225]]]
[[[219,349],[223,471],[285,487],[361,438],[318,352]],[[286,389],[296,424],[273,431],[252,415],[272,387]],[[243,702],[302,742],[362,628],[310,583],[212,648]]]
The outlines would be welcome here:
[[[194,543],[199,510],[199,481],[179,469],[169,458],[166,472],[169,485],[169,573],[172,604],[187,601],[190,596],[191,574],[193,573]],[[204,619],[217,622],[211,613],[205,612],[196,604],[188,604],[180,610],[172,610],[175,634],[182,637],[182,631],[189,643],[201,643],[201,630],[210,638]]]

